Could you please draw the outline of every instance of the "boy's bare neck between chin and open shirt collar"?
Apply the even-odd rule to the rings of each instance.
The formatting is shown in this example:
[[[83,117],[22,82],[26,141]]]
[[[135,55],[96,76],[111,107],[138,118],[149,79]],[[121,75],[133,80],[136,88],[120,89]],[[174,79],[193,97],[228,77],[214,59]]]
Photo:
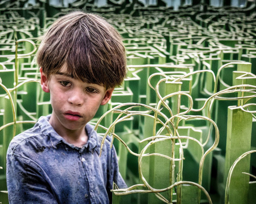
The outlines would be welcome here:
[[[72,144],[77,147],[82,147],[84,144],[88,141],[88,135],[85,130],[85,125],[77,130],[69,130],[62,125],[56,124],[54,117],[56,117],[54,114],[49,119],[50,125],[53,127],[53,129],[61,136],[63,137],[69,144]]]

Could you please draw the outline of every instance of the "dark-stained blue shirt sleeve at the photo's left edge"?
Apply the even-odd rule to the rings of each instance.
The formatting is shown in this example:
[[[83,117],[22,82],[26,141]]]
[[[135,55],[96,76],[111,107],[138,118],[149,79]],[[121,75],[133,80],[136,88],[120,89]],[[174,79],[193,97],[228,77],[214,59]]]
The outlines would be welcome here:
[[[6,181],[9,204],[57,204],[40,166],[29,158],[7,154]]]

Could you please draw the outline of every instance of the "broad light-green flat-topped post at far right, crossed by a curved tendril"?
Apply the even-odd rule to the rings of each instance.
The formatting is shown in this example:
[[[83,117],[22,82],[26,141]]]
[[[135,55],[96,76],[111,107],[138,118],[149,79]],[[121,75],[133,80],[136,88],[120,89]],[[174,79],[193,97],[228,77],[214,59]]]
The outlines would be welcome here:
[[[225,158],[225,179],[231,165],[244,152],[251,150],[252,115],[236,106],[228,107],[227,145]],[[250,156],[241,160],[231,176],[229,203],[248,203],[249,176],[242,172],[250,172]]]

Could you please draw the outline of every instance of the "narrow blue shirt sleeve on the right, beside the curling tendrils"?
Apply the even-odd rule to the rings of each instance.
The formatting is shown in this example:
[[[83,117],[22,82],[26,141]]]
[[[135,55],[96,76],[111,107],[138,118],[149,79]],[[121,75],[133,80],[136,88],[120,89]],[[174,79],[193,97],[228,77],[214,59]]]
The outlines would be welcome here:
[[[112,203],[112,192],[110,189],[113,189],[113,182],[118,186],[118,188],[127,188],[127,185],[125,184],[118,167],[118,159],[115,151],[114,145],[111,148],[111,174],[108,181],[108,195],[109,195],[109,203]]]

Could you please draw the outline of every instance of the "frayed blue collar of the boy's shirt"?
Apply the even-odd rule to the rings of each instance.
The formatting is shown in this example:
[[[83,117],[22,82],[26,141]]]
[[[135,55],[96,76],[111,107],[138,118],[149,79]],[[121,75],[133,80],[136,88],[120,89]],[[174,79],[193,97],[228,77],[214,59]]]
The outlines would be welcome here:
[[[95,150],[99,154],[99,148],[97,148],[97,146],[98,146],[98,135],[97,135],[97,132],[94,131],[94,126],[93,125],[88,124],[88,123],[86,124],[85,129],[86,129],[86,132],[87,132],[87,135],[88,135],[88,141],[85,145],[83,145],[82,148],[80,148],[80,147],[76,147],[72,144],[69,144],[63,137],[61,137],[53,129],[53,127],[49,123],[50,117],[51,117],[51,115],[41,116],[38,119],[37,123],[39,124],[39,127],[41,128],[41,132],[44,135],[49,135],[50,136],[51,144],[54,148],[57,148],[56,145],[62,142],[62,143],[67,144],[71,148],[79,150],[79,152],[82,152],[84,149],[87,149],[91,153],[93,153],[93,150]]]

